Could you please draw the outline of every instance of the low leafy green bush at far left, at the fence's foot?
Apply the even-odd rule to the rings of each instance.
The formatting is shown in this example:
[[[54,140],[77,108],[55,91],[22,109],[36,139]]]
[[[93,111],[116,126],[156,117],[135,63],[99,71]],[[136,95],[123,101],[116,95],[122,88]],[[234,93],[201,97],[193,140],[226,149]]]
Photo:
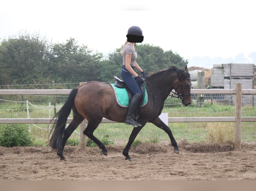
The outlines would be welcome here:
[[[32,140],[32,135],[24,124],[0,125],[0,146],[29,146]]]

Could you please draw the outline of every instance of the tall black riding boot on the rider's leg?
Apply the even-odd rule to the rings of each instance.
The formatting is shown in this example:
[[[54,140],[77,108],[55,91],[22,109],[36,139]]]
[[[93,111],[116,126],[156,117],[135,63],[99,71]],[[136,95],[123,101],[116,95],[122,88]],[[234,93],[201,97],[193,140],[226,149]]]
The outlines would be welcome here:
[[[129,104],[127,117],[124,121],[126,125],[132,125],[133,127],[141,126],[141,124],[137,123],[133,118],[135,114],[135,110],[137,109],[137,106],[139,104],[139,101],[140,101],[140,95],[139,94],[133,95]]]

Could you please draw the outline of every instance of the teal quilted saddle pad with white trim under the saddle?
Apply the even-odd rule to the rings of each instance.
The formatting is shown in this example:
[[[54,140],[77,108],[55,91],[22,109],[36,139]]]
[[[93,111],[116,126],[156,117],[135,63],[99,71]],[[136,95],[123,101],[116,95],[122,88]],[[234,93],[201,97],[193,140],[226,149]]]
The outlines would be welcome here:
[[[129,107],[129,96],[125,88],[117,88],[115,84],[110,84],[114,90],[116,101],[121,107]],[[143,84],[145,90],[144,101],[141,106],[147,104],[147,90],[145,84]]]

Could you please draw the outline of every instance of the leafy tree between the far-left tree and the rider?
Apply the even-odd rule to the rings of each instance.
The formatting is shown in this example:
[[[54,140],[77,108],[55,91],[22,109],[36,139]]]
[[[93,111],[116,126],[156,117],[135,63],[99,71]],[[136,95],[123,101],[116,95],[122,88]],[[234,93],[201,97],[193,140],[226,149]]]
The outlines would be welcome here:
[[[93,53],[85,45],[77,45],[74,38],[67,43],[54,44],[50,58],[53,80],[62,83],[99,81],[102,57],[101,53]]]

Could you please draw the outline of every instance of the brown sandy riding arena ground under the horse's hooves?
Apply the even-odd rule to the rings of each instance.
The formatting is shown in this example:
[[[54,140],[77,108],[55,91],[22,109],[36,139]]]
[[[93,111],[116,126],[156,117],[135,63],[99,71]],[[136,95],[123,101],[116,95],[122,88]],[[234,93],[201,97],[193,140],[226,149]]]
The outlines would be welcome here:
[[[256,180],[256,144],[226,152],[180,154],[167,143],[145,143],[130,149],[133,161],[124,160],[123,145],[98,148],[66,146],[60,161],[48,147],[0,147],[0,180]]]

